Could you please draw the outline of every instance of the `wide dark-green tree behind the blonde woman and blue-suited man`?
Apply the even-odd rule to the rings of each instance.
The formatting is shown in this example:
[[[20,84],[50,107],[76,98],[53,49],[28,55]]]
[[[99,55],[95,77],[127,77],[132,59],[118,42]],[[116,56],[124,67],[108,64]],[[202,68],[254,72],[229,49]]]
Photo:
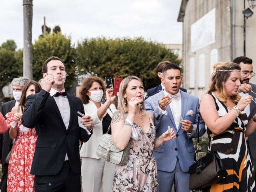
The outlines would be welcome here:
[[[78,42],[77,64],[80,70],[104,78],[125,78],[135,75],[144,82],[145,90],[160,84],[156,76],[159,62],[180,64],[178,56],[157,42],[143,38],[91,38]]]

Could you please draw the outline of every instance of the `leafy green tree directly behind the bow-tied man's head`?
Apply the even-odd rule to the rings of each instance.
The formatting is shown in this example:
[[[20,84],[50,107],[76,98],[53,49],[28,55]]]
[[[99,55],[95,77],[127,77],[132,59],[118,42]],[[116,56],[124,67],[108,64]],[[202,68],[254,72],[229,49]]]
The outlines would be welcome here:
[[[33,46],[33,77],[38,81],[42,78],[42,64],[50,56],[59,57],[66,65],[66,78],[65,86],[68,90],[75,81],[74,74],[74,48],[71,48],[71,38],[62,35],[60,32],[39,37]],[[73,61],[73,62],[72,62]]]

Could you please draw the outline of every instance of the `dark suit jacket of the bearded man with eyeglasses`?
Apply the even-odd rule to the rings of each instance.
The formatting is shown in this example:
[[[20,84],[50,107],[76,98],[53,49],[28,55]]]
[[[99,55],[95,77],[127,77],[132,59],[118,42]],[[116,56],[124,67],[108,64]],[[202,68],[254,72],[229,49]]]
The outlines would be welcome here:
[[[251,84],[252,86],[252,91],[256,93],[256,85]],[[249,92],[249,95],[252,96],[253,98],[256,98],[256,95],[253,92]],[[256,101],[256,100],[254,100]],[[248,117],[248,121],[252,119],[252,117],[256,114],[256,104],[252,101],[250,104],[250,115]],[[250,136],[248,136],[248,145],[249,145],[249,150],[252,158],[256,160],[256,132],[254,131]]]

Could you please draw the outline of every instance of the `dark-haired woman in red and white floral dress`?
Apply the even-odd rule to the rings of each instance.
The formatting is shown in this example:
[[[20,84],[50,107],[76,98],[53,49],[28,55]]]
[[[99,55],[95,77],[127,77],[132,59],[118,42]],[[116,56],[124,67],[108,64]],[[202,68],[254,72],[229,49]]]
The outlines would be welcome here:
[[[34,175],[30,174],[37,134],[35,129],[22,125],[21,117],[25,107],[26,97],[40,92],[41,86],[35,82],[27,82],[22,90],[20,105],[12,108],[6,114],[6,121],[10,128],[11,139],[15,139],[8,167],[8,192],[34,192]],[[18,111],[18,108],[21,111]]]

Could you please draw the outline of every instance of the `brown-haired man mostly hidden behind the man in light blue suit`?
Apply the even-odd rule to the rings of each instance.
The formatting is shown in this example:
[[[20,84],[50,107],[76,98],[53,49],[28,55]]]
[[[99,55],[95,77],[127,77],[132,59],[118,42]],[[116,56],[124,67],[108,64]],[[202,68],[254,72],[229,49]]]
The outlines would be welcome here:
[[[158,63],[158,65],[156,66],[156,74],[160,79],[163,76],[162,71],[167,66],[167,64],[171,64],[171,62],[163,61],[163,62]],[[154,94],[157,94],[158,92],[162,91],[163,89],[164,89],[164,83],[162,82],[162,79],[161,79],[160,85],[147,90],[146,99]],[[187,92],[187,90],[184,88],[180,88],[180,90]]]

